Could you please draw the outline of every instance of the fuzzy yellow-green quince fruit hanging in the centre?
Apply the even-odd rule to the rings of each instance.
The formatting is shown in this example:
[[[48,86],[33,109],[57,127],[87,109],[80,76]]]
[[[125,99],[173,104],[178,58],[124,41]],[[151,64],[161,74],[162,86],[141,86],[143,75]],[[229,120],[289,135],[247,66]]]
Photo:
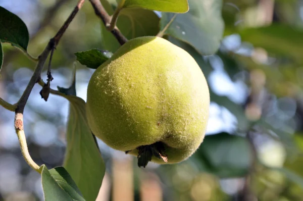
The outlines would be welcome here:
[[[168,163],[187,159],[203,141],[209,105],[208,85],[195,60],[155,36],[122,45],[95,70],[87,88],[87,119],[98,138],[135,156],[136,147],[161,141]]]

